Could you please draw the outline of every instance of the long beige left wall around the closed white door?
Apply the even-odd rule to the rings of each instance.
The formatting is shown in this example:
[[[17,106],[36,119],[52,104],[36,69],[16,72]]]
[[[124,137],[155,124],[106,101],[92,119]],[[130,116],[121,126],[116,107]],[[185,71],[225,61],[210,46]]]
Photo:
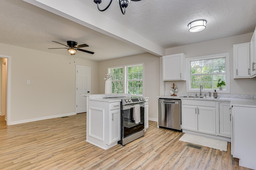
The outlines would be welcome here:
[[[11,56],[11,124],[75,113],[76,65],[91,67],[91,93],[98,93],[98,62],[0,44]],[[30,80],[31,84],[26,84]]]

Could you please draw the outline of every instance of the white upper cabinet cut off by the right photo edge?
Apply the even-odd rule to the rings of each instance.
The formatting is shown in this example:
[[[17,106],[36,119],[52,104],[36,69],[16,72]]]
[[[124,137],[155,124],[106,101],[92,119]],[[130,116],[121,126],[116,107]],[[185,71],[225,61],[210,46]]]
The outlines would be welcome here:
[[[256,30],[251,39],[251,77],[256,77]]]

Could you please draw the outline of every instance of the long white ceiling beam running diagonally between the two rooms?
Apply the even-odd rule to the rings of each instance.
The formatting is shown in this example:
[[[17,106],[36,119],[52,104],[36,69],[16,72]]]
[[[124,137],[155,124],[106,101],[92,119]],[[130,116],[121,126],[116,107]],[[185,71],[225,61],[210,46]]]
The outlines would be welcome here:
[[[91,9],[79,0],[23,0],[39,8],[62,16],[100,33],[136,45],[157,56],[165,55],[165,49],[128,29],[124,25]],[[96,7],[95,7],[96,8]]]

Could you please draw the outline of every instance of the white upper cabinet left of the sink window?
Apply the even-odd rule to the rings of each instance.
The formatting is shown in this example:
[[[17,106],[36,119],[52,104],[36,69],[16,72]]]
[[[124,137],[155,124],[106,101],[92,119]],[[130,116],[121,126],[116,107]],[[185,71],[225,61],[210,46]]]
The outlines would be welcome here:
[[[163,56],[163,81],[186,80],[186,55]]]

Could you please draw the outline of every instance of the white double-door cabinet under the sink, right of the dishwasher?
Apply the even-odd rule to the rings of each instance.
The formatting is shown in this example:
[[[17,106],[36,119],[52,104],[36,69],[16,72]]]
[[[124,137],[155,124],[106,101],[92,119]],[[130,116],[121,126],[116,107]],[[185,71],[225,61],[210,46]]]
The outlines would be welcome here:
[[[216,134],[215,102],[182,100],[182,129]]]

